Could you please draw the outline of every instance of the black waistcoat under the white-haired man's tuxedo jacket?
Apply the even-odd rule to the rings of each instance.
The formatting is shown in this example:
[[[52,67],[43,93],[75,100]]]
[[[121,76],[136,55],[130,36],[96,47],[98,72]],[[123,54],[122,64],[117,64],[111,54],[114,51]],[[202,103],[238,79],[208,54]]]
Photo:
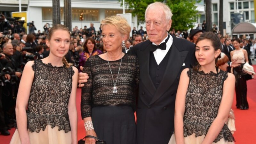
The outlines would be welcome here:
[[[156,63],[156,59],[155,56],[153,54],[153,52],[150,52],[150,56],[149,56],[149,75],[150,78],[154,84],[154,86],[156,87],[156,89],[158,88],[159,84],[161,83],[163,76],[164,76],[164,72],[169,60],[169,56],[170,56],[170,52],[171,48],[169,49],[169,51],[167,52],[167,54],[165,55],[164,59],[160,62],[159,65],[157,65]]]

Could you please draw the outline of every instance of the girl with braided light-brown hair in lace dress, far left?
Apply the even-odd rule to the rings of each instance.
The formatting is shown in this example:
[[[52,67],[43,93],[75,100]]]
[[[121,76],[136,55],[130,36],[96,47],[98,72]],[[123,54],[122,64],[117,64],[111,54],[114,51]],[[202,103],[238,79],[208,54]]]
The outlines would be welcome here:
[[[49,56],[25,65],[16,103],[18,129],[11,144],[77,143],[78,70],[64,57],[69,42],[68,28],[53,26],[46,37]]]

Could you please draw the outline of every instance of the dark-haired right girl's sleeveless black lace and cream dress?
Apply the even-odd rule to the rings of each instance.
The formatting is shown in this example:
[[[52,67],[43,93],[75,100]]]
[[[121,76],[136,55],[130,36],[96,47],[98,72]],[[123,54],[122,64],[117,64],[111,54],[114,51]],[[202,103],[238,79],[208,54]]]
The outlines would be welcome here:
[[[189,85],[186,94],[184,113],[184,141],[185,144],[201,144],[213,120],[217,117],[223,83],[228,77],[228,72],[220,70],[215,74],[194,71],[190,68],[187,72]],[[234,137],[224,124],[219,135],[213,141],[218,144],[233,144]],[[175,134],[169,144],[176,144]]]

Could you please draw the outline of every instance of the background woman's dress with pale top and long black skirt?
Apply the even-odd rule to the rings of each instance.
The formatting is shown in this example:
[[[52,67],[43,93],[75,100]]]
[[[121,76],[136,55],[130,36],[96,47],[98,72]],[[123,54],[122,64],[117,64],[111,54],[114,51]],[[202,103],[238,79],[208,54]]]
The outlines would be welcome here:
[[[245,79],[246,74],[243,70],[245,63],[243,49],[241,48],[240,50],[234,50],[232,59],[237,60],[237,62],[241,64],[240,66],[233,68],[233,74],[236,77],[236,108],[241,110],[248,109],[249,105],[247,102],[247,84]]]

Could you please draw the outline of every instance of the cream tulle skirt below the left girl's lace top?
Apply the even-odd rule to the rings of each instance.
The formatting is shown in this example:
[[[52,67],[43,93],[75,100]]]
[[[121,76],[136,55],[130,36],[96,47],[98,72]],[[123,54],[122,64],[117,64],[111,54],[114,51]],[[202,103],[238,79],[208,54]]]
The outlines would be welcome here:
[[[58,130],[58,126],[52,128],[47,125],[45,130],[41,130],[39,133],[29,132],[30,144],[71,144],[71,131],[65,133],[64,130]],[[21,144],[19,132],[16,129],[12,136],[10,144]]]

